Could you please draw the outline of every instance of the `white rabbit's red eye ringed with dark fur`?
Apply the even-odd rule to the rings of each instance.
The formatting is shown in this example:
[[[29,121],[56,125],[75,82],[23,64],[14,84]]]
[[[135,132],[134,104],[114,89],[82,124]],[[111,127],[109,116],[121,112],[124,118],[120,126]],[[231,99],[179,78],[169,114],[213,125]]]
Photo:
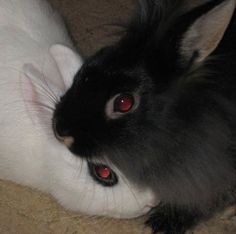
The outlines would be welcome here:
[[[108,166],[93,163],[88,163],[88,166],[90,174],[100,184],[104,186],[113,186],[117,184],[117,176]]]

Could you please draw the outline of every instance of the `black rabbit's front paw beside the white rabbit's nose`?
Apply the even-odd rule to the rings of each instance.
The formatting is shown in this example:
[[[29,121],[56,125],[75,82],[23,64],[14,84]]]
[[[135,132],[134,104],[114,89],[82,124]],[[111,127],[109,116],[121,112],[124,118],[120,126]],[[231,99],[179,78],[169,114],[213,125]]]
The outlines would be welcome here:
[[[184,234],[200,220],[197,211],[173,208],[170,205],[160,205],[153,210],[146,225],[152,228],[153,234]]]

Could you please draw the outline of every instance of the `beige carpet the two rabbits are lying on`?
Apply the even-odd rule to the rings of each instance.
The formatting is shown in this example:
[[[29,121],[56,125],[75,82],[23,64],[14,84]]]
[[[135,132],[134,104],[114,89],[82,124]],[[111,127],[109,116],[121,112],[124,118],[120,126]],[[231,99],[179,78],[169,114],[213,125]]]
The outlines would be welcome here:
[[[85,56],[117,40],[135,0],[50,0],[65,17]],[[115,34],[114,34],[115,33]],[[231,212],[232,213],[232,212]],[[235,214],[235,210],[233,211]],[[0,234],[150,234],[138,220],[84,217],[65,211],[52,198],[29,188],[0,181]],[[220,215],[194,234],[236,234],[236,216]]]

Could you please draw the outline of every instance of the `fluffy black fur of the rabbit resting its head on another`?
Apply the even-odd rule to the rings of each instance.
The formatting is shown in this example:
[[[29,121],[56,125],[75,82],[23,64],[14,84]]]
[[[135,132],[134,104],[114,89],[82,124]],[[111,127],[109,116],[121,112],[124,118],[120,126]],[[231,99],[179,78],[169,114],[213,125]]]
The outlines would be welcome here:
[[[126,35],[85,62],[56,108],[57,131],[75,138],[74,154],[105,155],[152,188],[162,202],[147,221],[154,233],[184,233],[235,203],[235,15],[211,60],[194,67],[198,51],[185,61],[179,49],[195,20],[223,1],[192,10],[182,0],[142,1]],[[139,93],[139,107],[108,120],[107,101],[126,92]]]

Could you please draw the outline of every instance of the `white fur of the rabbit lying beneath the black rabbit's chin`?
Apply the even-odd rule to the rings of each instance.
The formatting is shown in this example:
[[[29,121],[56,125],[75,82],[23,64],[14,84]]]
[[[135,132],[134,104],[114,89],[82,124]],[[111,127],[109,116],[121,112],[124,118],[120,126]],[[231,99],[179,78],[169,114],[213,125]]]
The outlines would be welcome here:
[[[132,185],[114,167],[118,185],[103,187],[86,161],[54,137],[50,108],[81,66],[69,48],[67,32],[47,3],[0,0],[0,178],[48,192],[83,213],[142,215],[154,205],[151,191]]]

